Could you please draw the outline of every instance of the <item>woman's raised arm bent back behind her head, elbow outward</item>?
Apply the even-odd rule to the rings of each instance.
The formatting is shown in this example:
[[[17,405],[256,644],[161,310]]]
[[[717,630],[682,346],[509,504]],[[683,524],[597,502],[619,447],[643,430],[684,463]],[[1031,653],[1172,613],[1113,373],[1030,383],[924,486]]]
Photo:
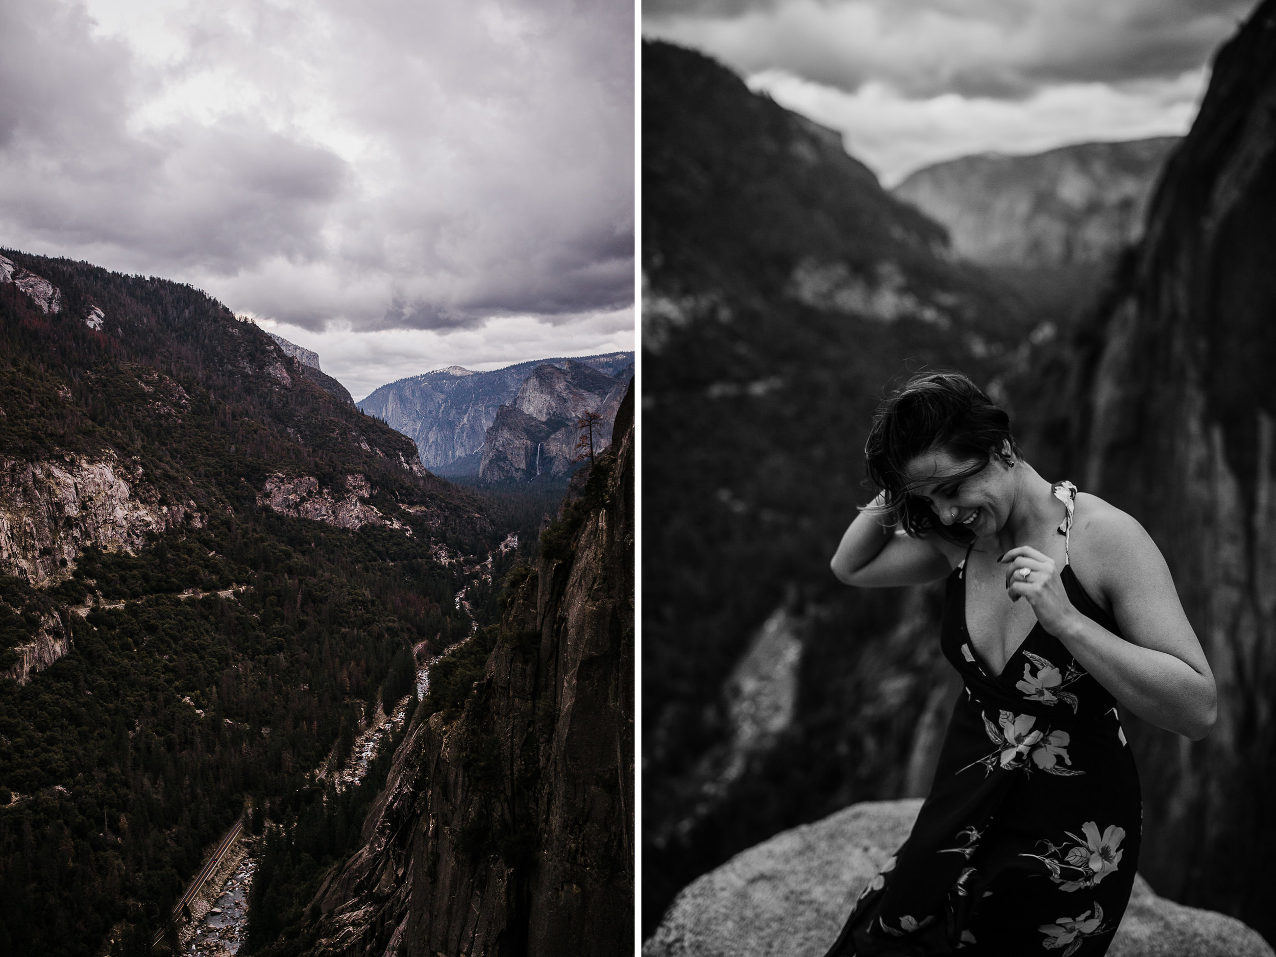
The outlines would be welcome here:
[[[860,588],[923,584],[949,572],[948,558],[926,538],[905,535],[888,523],[883,496],[855,517],[829,565],[838,581]]]

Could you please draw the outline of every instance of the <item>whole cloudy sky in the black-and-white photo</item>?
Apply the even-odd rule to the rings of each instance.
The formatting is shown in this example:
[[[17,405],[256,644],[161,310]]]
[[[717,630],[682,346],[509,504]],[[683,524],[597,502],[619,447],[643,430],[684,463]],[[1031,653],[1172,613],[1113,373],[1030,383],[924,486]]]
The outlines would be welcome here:
[[[703,50],[842,131],[887,185],[942,160],[1182,134],[1254,0],[647,0]]]

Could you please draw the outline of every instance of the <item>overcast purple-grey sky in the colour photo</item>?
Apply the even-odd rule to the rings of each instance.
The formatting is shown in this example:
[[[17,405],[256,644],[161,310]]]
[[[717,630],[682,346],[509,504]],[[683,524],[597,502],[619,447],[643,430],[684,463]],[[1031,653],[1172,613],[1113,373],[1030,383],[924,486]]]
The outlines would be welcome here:
[[[0,0],[0,246],[190,282],[356,398],[629,350],[630,0]]]

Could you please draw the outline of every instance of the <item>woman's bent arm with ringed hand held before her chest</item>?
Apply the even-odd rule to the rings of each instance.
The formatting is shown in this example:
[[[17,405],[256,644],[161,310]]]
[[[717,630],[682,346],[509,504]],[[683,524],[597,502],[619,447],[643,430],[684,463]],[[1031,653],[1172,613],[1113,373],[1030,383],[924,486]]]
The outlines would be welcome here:
[[[1027,598],[1045,629],[1132,712],[1192,740],[1205,738],[1217,716],[1213,675],[1160,549],[1138,522],[1110,507],[1085,531],[1087,578],[1100,583],[1125,641],[1073,607],[1054,561],[1036,549],[1002,558],[1011,597]],[[1020,581],[1020,568],[1035,574]]]

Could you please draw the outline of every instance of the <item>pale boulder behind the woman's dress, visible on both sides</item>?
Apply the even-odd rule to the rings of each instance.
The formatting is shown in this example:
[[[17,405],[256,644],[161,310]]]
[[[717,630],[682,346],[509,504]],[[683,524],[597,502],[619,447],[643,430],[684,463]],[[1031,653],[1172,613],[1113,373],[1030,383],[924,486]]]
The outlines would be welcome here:
[[[866,801],[750,847],[686,887],[643,957],[819,957],[903,843],[920,800]],[[1159,897],[1136,878],[1110,957],[1272,957],[1234,917]]]

